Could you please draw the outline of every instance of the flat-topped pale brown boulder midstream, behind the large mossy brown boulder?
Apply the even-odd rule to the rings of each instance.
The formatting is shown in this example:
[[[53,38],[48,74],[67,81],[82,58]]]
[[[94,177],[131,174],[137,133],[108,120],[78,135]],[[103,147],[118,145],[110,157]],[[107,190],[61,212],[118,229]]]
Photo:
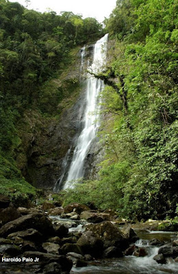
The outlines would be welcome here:
[[[93,212],[90,210],[81,212],[81,219],[84,219],[90,223],[101,223],[103,221],[110,220],[110,214],[102,212]]]

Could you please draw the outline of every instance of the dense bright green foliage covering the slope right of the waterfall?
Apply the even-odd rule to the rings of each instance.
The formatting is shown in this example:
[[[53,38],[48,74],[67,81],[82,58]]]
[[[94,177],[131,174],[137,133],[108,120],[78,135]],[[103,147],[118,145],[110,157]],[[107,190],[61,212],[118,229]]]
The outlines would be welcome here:
[[[177,0],[118,0],[105,20],[116,38],[97,75],[110,85],[99,133],[105,161],[99,179],[69,190],[68,202],[93,202],[133,219],[175,216],[177,9]]]

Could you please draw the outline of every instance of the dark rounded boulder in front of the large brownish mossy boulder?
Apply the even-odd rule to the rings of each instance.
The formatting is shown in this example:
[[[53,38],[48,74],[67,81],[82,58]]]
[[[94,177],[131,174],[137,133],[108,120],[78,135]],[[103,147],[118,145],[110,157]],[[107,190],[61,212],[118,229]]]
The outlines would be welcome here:
[[[77,245],[81,248],[82,253],[90,254],[95,258],[100,258],[103,254],[103,241],[94,236],[91,231],[84,232],[77,240]]]

